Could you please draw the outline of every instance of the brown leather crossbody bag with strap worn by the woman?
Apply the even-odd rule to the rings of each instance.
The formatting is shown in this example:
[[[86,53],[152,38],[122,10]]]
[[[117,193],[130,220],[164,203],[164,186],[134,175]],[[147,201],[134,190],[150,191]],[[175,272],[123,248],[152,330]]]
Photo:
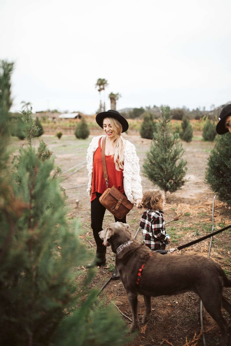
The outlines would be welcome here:
[[[122,219],[133,208],[134,204],[128,201],[127,197],[120,192],[114,185],[112,188],[108,188],[108,175],[105,160],[105,142],[106,137],[102,140],[102,163],[104,171],[104,179],[107,186],[107,190],[100,196],[100,203],[109,210],[115,217]]]

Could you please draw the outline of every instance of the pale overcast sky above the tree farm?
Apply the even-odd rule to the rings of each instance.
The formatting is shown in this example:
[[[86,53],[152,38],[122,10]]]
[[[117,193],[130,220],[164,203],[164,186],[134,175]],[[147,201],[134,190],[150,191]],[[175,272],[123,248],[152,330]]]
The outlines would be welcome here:
[[[94,114],[189,109],[231,101],[230,0],[0,0],[0,59],[15,63],[11,111],[21,101]]]

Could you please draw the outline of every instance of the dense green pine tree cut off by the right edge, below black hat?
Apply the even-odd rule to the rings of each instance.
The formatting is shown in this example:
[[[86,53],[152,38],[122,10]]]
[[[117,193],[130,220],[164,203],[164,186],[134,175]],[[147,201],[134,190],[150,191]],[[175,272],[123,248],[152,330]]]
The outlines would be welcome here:
[[[220,201],[231,207],[231,136],[216,137],[216,144],[208,158],[205,181]]]

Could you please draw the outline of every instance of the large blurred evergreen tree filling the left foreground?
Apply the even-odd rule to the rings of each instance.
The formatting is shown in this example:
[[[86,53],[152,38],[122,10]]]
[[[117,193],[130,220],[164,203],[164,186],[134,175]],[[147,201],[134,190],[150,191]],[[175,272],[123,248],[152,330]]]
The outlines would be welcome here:
[[[12,165],[9,113],[0,95],[0,340],[7,346],[123,345],[127,329],[113,306],[97,304],[97,290],[76,283],[86,263],[79,224],[69,225],[60,169],[29,111],[22,120],[27,145]],[[81,292],[83,290],[83,292]],[[86,295],[83,299],[83,294]],[[77,308],[78,307],[78,308]]]

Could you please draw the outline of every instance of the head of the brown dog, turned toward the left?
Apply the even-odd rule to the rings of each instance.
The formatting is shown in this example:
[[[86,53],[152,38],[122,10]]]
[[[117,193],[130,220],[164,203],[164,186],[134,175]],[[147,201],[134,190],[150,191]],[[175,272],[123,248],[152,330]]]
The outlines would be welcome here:
[[[107,226],[103,231],[99,232],[99,237],[104,241],[105,246],[111,246],[112,251],[116,253],[119,245],[131,239],[131,233],[128,231],[130,226],[123,224],[123,222],[113,222]]]

